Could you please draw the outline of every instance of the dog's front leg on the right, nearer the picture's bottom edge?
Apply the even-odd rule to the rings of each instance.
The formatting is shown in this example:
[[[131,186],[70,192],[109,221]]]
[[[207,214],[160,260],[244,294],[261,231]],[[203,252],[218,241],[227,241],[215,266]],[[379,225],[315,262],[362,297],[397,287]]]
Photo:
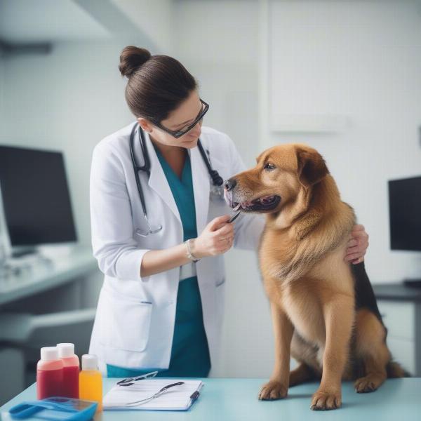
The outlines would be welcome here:
[[[310,408],[336,409],[342,404],[341,380],[349,354],[349,340],[354,321],[354,300],[342,295],[323,305],[326,326],[326,346],[323,353],[323,373]]]

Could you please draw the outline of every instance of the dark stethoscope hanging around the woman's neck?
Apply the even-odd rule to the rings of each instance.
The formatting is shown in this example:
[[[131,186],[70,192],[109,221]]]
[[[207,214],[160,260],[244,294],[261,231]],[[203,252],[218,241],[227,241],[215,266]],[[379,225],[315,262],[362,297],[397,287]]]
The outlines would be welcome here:
[[[139,128],[138,138],[139,138],[140,148],[142,149],[143,159],[145,161],[145,163],[142,166],[138,165],[135,159],[134,145],[135,145],[136,128]],[[224,189],[222,187],[222,184],[224,180],[222,180],[222,177],[218,174],[218,171],[214,170],[212,166],[210,165],[210,159],[208,155],[206,154],[205,149],[203,149],[200,139],[197,142],[197,146],[199,147],[199,152],[201,154],[203,162],[205,163],[206,168],[208,169],[210,178],[212,179],[212,185],[210,186],[210,194],[218,199],[223,200]],[[142,185],[140,185],[139,171],[145,171],[145,173],[147,173],[147,176],[149,178],[149,176],[151,175],[151,161],[149,160],[149,153],[147,152],[147,147],[145,143],[145,133],[143,133],[143,130],[139,126],[138,123],[135,123],[131,131],[130,154],[131,154],[131,159],[133,163],[133,170],[135,171],[136,185],[138,186],[140,203],[142,203],[143,215],[145,216],[146,225],[147,225],[147,232],[142,232],[140,229],[136,229],[136,234],[139,234],[140,236],[148,236],[149,234],[156,234],[157,232],[161,231],[162,225],[151,227],[151,225],[149,224],[149,220],[147,219],[145,196],[143,194]]]

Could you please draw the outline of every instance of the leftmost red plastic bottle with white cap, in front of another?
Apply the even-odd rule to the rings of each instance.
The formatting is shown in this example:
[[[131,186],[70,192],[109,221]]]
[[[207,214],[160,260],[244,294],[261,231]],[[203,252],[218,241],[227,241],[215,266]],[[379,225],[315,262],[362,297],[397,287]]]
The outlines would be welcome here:
[[[36,397],[44,399],[60,396],[63,383],[63,362],[57,347],[41,348],[41,359],[36,364]]]

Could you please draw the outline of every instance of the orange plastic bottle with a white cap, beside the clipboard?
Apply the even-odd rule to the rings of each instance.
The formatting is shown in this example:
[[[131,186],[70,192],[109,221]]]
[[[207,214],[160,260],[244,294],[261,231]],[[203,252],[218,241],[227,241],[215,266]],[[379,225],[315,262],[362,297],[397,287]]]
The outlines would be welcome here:
[[[79,373],[79,399],[98,402],[97,412],[102,410],[102,375],[98,370],[96,355],[82,355],[82,370]]]

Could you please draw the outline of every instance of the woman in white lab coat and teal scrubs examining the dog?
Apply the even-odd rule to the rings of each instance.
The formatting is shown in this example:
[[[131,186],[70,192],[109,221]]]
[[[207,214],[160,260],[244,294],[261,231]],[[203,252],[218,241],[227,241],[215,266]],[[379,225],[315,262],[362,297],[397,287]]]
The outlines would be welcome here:
[[[92,244],[105,281],[90,353],[109,377],[206,377],[218,359],[223,254],[255,250],[264,219],[228,222],[222,180],[246,168],[227,135],[202,126],[208,105],[187,69],[133,46],[119,69],[137,121],[93,152]],[[353,236],[345,258],[359,262],[367,234],[356,226]]]

